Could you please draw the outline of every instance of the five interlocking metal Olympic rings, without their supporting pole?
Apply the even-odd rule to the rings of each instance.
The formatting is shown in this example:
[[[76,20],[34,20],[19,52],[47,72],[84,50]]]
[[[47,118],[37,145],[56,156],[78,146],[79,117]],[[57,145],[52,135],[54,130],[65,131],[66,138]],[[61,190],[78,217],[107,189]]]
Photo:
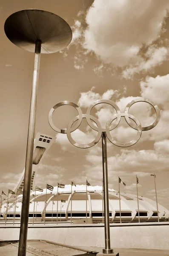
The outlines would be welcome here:
[[[147,102],[149,103],[150,105],[152,105],[152,107],[155,109],[155,113],[156,113],[156,118],[155,118],[155,121],[151,124],[151,125],[148,125],[146,127],[142,127],[139,120],[129,114],[129,108],[135,104],[136,102]],[[90,114],[92,108],[94,108],[96,105],[100,104],[100,103],[106,103],[106,104],[109,104],[111,105],[115,111],[116,111],[116,114],[115,115],[112,115],[112,118],[109,119],[106,123],[106,127],[103,128],[101,127],[100,125],[100,122]],[[56,108],[60,107],[60,106],[63,106],[63,105],[71,105],[72,107],[74,107],[77,112],[78,112],[78,116],[75,116],[68,124],[67,128],[64,128],[64,129],[59,129],[57,127],[55,127],[54,123],[53,123],[53,120],[52,120],[52,115],[55,111]],[[120,119],[121,117],[124,117],[126,122],[128,123],[128,125],[130,125],[132,128],[134,128],[135,130],[137,130],[137,135],[136,137],[128,142],[128,143],[120,143],[118,141],[116,141],[114,138],[112,138],[111,134],[110,134],[110,131],[112,131],[113,129],[115,129],[117,127],[117,125],[120,123]],[[95,131],[98,132],[97,134],[97,137],[95,138],[95,140],[93,140],[91,143],[88,143],[88,144],[79,144],[77,142],[75,142],[73,139],[72,139],[72,135],[71,135],[71,132],[72,131],[75,131],[81,124],[82,122],[82,119],[83,118],[86,118],[86,121],[88,123],[88,125]],[[133,122],[131,122],[131,119],[135,122],[135,124]],[[67,134],[67,137],[69,139],[69,141],[76,147],[78,148],[90,148],[94,145],[96,145],[98,143],[98,141],[100,140],[100,137],[102,136],[102,132],[106,132],[106,136],[108,137],[109,141],[111,143],[113,143],[114,145],[117,145],[119,147],[129,147],[129,146],[132,146],[134,145],[135,143],[137,143],[137,141],[140,139],[141,137],[141,134],[142,134],[142,131],[148,131],[152,128],[154,128],[159,120],[160,120],[160,110],[158,108],[157,105],[155,105],[154,102],[150,101],[149,99],[143,99],[143,98],[137,98],[137,99],[134,99],[132,100],[131,102],[129,102],[127,105],[126,105],[126,108],[125,108],[125,111],[124,113],[121,113],[120,112],[120,109],[118,108],[118,106],[110,101],[110,100],[104,100],[104,99],[100,99],[100,100],[97,100],[95,101],[92,105],[89,106],[89,108],[87,109],[86,111],[86,114],[83,114],[80,107],[75,104],[74,102],[70,102],[70,101],[63,101],[63,102],[59,102],[57,103],[56,105],[54,105],[54,107],[49,111],[49,117],[48,117],[48,120],[49,120],[49,125],[52,127],[52,129],[54,131],[57,131],[58,133],[62,133],[62,134]],[[94,125],[94,123],[92,121],[94,121],[94,123],[97,125]],[[112,124],[112,122],[115,120],[115,122]],[[77,123],[72,126],[74,124],[74,122]],[[112,124],[112,125],[111,125]]]

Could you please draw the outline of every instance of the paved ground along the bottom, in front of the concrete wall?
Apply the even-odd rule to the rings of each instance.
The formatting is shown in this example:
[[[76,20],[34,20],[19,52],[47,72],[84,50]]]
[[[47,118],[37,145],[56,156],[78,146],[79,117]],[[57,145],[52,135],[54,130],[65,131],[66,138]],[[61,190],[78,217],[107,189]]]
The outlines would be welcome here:
[[[92,256],[102,247],[66,247],[46,241],[27,241],[26,256]],[[169,250],[113,248],[119,256],[169,256]],[[0,241],[0,256],[17,256],[18,242]],[[87,253],[89,252],[89,253]]]

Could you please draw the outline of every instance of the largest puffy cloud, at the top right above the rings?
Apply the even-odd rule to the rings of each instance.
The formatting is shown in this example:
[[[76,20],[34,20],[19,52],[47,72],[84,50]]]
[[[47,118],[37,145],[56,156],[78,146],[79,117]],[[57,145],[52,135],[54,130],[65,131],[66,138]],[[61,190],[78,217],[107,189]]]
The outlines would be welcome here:
[[[106,5],[104,0],[94,0],[86,13],[78,15],[72,28],[79,64],[83,56],[94,53],[99,62],[93,68],[96,74],[100,76],[104,65],[109,64],[111,69],[123,68],[126,79],[162,64],[168,55],[160,37],[168,8],[167,0],[144,4],[142,0],[107,0]],[[84,63],[76,66],[84,68]]]

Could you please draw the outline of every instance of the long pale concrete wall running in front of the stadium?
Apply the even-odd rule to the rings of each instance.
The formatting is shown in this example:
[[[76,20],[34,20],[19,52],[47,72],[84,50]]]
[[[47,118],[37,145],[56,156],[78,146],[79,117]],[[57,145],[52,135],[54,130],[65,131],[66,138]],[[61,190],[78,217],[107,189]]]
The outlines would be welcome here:
[[[55,226],[54,226],[55,225]],[[0,224],[0,240],[18,240],[20,228]],[[119,248],[169,250],[169,223],[111,224],[111,246]],[[44,239],[74,246],[104,247],[104,226],[29,224],[28,239]]]

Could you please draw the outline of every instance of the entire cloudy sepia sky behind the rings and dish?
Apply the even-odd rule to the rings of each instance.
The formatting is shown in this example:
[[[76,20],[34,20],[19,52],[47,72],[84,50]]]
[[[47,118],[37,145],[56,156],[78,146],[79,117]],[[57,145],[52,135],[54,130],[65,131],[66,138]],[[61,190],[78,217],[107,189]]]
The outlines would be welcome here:
[[[169,0],[29,0],[0,2],[0,192],[13,189],[23,172],[29,122],[34,53],[9,41],[5,20],[22,9],[42,9],[62,17],[72,28],[72,42],[66,49],[42,54],[37,101],[36,132],[54,136],[55,143],[39,166],[36,184],[57,186],[57,182],[102,184],[101,140],[92,148],[74,147],[66,134],[57,134],[49,125],[50,109],[68,100],[86,109],[98,99],[115,102],[123,113],[137,97],[149,99],[160,108],[158,125],[143,131],[140,140],[120,148],[107,140],[109,188],[118,190],[118,176],[126,183],[121,192],[155,200],[169,209]],[[129,110],[142,126],[154,122],[155,111],[148,103],[137,102]],[[114,114],[106,104],[91,114],[105,127]],[[66,128],[77,116],[71,106],[54,111],[54,124]],[[122,118],[111,135],[129,142],[137,131]],[[86,119],[72,137],[89,143],[97,132]]]

